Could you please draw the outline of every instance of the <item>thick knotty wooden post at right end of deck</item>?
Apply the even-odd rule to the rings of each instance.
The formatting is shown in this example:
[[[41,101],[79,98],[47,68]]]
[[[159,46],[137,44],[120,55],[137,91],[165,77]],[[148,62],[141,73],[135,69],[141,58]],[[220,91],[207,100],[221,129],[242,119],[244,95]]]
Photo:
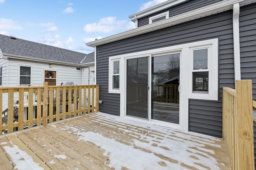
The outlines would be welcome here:
[[[236,168],[254,170],[252,80],[236,80]]]

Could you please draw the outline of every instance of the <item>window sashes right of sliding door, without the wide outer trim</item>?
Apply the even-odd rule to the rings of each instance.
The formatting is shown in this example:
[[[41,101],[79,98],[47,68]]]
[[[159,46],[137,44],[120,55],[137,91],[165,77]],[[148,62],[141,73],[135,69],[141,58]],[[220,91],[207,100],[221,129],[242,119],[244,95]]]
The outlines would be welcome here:
[[[208,94],[208,51],[208,48],[192,50],[192,93]]]

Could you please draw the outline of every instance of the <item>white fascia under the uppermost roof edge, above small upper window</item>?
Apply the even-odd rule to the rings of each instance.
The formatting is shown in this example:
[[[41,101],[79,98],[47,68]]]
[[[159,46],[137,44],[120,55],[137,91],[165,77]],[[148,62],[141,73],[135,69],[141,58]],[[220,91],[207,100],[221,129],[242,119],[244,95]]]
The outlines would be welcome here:
[[[187,1],[187,0],[168,0],[166,2],[158,4],[158,5],[153,6],[151,8],[148,8],[146,10],[137,12],[136,14],[130,15],[129,18],[130,18],[131,21],[134,22],[136,20],[136,18],[138,19],[138,18],[142,18],[144,16],[148,16],[150,14],[154,14],[156,12],[162,11],[162,10],[170,8],[172,6],[176,6],[178,4],[181,4],[182,2],[185,2],[185,1]]]

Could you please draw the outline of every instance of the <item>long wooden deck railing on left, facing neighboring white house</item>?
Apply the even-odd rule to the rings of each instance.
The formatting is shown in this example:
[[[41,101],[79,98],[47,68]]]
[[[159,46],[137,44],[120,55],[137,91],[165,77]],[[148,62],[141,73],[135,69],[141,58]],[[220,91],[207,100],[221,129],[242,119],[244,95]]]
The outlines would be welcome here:
[[[8,102],[8,108],[0,116],[0,132],[10,133],[24,126],[47,125],[95,112],[99,110],[98,100],[99,85],[48,86],[48,82],[44,82],[43,86],[1,87],[0,110],[3,102]],[[14,114],[16,110],[18,115]]]

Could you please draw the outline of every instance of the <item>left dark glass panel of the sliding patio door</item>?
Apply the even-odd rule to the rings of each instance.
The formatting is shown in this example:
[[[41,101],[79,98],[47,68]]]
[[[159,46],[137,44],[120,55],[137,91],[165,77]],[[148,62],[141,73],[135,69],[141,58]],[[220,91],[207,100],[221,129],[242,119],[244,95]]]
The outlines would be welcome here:
[[[148,57],[127,59],[126,115],[148,119]]]

